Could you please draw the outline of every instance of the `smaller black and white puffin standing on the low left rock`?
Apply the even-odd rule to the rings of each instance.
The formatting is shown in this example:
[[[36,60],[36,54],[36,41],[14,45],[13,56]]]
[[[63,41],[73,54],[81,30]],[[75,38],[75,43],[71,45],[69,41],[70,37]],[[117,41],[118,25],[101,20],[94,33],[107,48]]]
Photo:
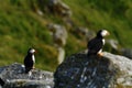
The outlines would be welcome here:
[[[35,64],[34,53],[35,53],[34,48],[29,48],[28,55],[24,58],[25,73],[29,73],[31,69],[34,68]]]

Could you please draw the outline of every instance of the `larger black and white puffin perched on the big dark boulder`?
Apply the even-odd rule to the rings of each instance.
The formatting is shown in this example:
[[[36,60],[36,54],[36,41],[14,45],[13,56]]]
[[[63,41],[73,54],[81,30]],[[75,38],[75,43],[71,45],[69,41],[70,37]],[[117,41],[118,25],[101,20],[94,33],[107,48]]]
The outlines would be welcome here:
[[[105,36],[109,35],[107,30],[100,30],[96,37],[88,42],[88,56],[89,55],[99,55],[102,56],[102,47],[105,45]]]

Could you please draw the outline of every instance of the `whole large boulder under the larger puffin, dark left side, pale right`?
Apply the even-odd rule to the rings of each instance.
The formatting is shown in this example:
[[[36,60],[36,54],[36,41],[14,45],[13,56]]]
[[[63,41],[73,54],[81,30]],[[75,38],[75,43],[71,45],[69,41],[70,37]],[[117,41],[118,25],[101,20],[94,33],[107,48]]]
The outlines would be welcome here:
[[[67,57],[54,74],[54,88],[132,88],[132,61],[105,52]]]

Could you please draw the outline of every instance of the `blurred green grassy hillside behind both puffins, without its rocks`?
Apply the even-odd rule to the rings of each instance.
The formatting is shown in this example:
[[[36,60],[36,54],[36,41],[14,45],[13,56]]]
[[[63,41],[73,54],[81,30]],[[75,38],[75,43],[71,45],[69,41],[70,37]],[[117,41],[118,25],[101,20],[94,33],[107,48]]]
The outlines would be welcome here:
[[[40,8],[37,1],[40,0],[0,0],[0,66],[23,63],[29,47],[32,46],[37,51],[36,68],[55,70],[57,67],[57,51],[46,24],[66,24],[56,14],[44,12],[42,16],[34,12],[31,3]],[[118,40],[122,47],[132,47],[132,0],[62,1],[70,8],[70,19],[76,24],[75,28],[87,26],[94,31],[107,29],[111,33],[110,38]],[[72,28],[66,29],[66,56],[87,48],[84,37],[73,33]]]

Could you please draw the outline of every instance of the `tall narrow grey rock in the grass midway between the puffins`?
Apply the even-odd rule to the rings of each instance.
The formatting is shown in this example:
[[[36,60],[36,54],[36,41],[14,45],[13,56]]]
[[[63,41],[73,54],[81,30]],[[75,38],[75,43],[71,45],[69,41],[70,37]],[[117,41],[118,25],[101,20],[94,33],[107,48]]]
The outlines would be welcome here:
[[[47,25],[47,28],[53,34],[53,41],[58,52],[57,61],[58,61],[58,64],[61,64],[65,58],[64,46],[66,45],[66,41],[67,41],[67,35],[68,35],[67,31],[65,26],[59,24],[51,23]]]

